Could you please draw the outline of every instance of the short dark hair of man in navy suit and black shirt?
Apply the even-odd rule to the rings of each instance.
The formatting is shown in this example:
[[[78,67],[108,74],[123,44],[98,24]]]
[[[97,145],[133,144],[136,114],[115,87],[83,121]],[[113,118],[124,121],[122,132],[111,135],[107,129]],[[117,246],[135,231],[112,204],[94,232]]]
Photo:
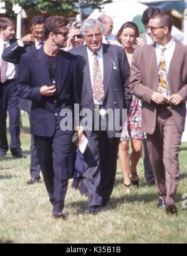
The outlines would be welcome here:
[[[68,19],[62,16],[50,16],[46,19],[44,24],[44,37],[48,39],[50,32],[59,31],[60,27],[67,26],[69,23]]]

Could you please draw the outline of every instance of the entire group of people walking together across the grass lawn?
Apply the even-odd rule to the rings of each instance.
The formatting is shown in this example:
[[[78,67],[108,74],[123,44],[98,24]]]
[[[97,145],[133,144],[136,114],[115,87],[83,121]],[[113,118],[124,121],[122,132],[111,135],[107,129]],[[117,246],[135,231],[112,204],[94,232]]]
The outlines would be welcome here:
[[[55,218],[65,219],[62,210],[70,178],[72,187],[88,197],[87,214],[110,210],[117,159],[124,194],[130,195],[140,186],[141,154],[145,179],[156,185],[157,207],[166,214],[178,213],[175,196],[186,117],[187,48],[171,36],[169,14],[148,7],[141,21],[143,34],[128,21],[113,36],[112,18],[105,14],[82,23],[61,16],[34,16],[31,32],[14,39],[14,22],[0,18],[0,157],[6,157],[9,147],[12,157],[27,157],[21,149],[19,122],[20,110],[26,111],[31,127],[27,185],[39,183],[42,171]],[[79,117],[72,117],[75,130],[61,129],[60,111],[70,109],[76,116],[74,104],[92,113],[91,130],[82,126]],[[108,109],[119,110],[120,137],[116,127],[110,130]],[[87,137],[84,153],[72,143],[74,133],[79,142]]]

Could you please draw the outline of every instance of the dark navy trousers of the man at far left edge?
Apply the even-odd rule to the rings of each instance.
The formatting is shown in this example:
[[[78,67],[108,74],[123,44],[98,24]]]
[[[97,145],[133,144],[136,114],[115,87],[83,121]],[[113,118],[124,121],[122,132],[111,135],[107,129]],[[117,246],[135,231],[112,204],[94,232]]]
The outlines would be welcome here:
[[[17,96],[13,90],[14,81],[7,80],[0,84],[0,151],[7,152],[9,149],[6,136],[6,118],[9,113],[9,132],[11,135],[10,149],[12,154],[21,150],[19,108]]]

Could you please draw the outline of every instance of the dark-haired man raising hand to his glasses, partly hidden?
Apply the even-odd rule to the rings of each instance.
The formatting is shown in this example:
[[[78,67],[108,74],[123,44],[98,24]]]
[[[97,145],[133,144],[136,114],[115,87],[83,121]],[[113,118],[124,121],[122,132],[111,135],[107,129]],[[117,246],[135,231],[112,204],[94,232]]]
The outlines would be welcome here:
[[[30,27],[31,33],[22,37],[21,39],[13,42],[9,47],[7,47],[3,54],[2,58],[5,61],[11,62],[13,64],[19,64],[21,55],[30,52],[32,50],[40,49],[44,44],[44,22],[45,19],[42,16],[34,16],[31,19]],[[29,114],[31,113],[31,101],[27,99],[18,98],[19,109],[26,111]],[[40,170],[39,161],[37,159],[36,147],[34,145],[34,139],[31,134],[31,164],[30,164],[30,174],[31,179],[27,181],[28,185],[37,184],[40,180]]]

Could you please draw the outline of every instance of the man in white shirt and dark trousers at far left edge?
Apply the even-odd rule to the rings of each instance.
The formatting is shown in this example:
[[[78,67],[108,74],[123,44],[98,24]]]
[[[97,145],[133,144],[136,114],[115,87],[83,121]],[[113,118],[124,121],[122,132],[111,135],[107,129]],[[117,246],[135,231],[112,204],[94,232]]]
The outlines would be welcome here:
[[[9,131],[11,135],[10,150],[13,157],[22,158],[26,157],[26,154],[21,149],[19,139],[19,108],[17,96],[12,91],[16,70],[14,64],[2,59],[2,52],[14,41],[12,37],[14,37],[14,21],[7,17],[2,17],[0,19],[0,157],[4,157],[9,149],[6,136],[6,117],[8,111]]]

